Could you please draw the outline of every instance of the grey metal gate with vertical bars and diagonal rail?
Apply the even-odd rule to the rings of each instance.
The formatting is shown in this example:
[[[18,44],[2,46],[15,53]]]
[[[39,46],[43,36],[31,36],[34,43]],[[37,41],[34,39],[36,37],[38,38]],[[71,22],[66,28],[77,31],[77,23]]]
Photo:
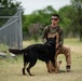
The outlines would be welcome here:
[[[13,16],[1,16],[1,19],[8,19],[5,24],[0,27],[0,43],[6,44],[10,48],[23,48],[23,31],[22,31],[22,10]]]

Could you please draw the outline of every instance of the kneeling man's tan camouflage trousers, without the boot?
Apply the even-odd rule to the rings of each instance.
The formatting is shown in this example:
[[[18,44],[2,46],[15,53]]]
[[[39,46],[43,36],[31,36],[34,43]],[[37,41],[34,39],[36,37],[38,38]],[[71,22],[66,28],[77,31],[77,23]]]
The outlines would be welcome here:
[[[59,54],[64,54],[65,58],[66,58],[66,66],[71,66],[71,51],[69,46],[63,45],[60,46],[57,51],[56,51],[56,55],[58,56]],[[54,70],[55,68],[52,66],[51,62],[50,62],[50,69]],[[57,67],[58,69],[60,68],[60,64],[57,62]]]

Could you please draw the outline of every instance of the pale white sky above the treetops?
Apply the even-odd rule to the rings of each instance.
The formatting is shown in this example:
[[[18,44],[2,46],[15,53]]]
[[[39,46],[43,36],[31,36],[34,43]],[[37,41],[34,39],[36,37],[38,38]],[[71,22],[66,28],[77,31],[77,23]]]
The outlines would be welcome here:
[[[16,0],[22,2],[24,14],[30,14],[35,10],[41,10],[47,5],[52,5],[55,10],[59,10],[66,4],[70,4],[70,0]]]

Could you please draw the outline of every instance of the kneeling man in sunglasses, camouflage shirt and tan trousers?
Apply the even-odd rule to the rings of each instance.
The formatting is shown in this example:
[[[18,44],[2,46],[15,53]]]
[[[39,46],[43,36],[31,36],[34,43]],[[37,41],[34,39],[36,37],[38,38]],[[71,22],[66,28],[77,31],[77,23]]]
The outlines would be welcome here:
[[[42,33],[42,41],[44,42],[47,40],[49,35],[53,36],[55,32],[58,33],[58,43],[56,44],[56,54],[64,54],[66,57],[66,70],[67,72],[71,71],[71,54],[70,54],[70,48],[67,48],[64,45],[64,29],[58,26],[59,23],[59,15],[53,14],[52,15],[52,24],[46,26]],[[51,37],[50,36],[50,37]],[[51,64],[51,63],[50,63]],[[52,65],[50,65],[51,70],[53,70]]]

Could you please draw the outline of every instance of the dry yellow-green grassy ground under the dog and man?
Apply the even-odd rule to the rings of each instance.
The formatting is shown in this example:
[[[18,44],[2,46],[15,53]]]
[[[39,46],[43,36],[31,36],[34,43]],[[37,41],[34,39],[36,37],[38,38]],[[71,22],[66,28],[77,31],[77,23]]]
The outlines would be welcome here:
[[[33,41],[24,41],[24,48]],[[65,39],[65,44],[71,48],[71,72],[49,73],[43,62],[38,60],[37,65],[31,69],[36,76],[30,77],[22,75],[23,56],[15,58],[10,56],[0,56],[0,81],[82,81],[82,42],[78,39]],[[58,59],[63,60],[60,70],[66,71],[66,60],[64,55],[59,55]]]

